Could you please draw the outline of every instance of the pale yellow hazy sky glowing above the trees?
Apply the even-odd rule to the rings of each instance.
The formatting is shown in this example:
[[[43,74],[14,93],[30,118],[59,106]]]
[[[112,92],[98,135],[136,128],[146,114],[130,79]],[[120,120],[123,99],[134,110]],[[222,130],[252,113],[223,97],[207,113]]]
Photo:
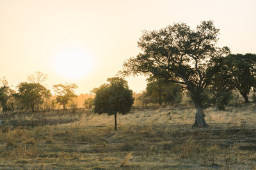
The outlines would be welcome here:
[[[195,28],[213,20],[219,46],[256,53],[256,1],[0,0],[0,78],[13,87],[29,74],[48,74],[47,87],[76,83],[90,92],[139,52],[142,30],[185,22]],[[76,76],[72,76],[76,74]],[[145,89],[145,78],[127,78]]]

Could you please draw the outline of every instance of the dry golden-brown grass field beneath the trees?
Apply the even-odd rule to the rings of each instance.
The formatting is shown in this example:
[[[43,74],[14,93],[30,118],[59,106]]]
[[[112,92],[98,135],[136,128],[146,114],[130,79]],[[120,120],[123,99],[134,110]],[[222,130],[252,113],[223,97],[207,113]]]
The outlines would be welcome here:
[[[0,169],[256,169],[256,104],[205,111],[193,106],[1,113]]]

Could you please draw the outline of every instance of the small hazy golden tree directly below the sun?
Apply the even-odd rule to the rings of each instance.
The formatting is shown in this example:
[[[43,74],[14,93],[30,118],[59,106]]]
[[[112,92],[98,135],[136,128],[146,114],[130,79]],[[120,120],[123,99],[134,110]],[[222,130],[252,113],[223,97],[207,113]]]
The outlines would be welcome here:
[[[63,109],[65,109],[65,106],[69,101],[72,101],[74,97],[77,97],[74,92],[74,90],[77,89],[77,85],[74,83],[54,85],[52,88],[57,94],[56,103],[62,104]]]

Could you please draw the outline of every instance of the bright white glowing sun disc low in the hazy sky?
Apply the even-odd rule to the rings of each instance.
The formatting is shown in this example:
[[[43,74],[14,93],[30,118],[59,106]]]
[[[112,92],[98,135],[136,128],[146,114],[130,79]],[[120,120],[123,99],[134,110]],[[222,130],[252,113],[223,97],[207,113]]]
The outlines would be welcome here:
[[[62,50],[54,56],[56,73],[70,80],[79,80],[92,73],[94,62],[92,56],[79,49]]]

